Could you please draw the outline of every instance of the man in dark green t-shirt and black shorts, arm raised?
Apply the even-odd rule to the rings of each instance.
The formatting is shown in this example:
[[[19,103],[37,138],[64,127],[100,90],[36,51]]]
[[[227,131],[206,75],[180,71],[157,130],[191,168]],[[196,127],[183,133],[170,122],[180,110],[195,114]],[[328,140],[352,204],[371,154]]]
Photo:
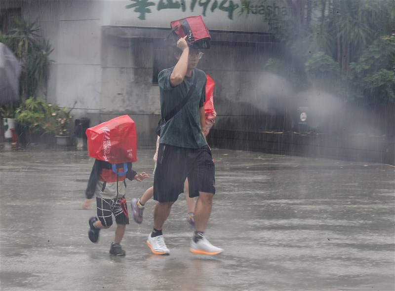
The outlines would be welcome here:
[[[188,44],[185,37],[177,41],[177,64],[158,75],[161,116],[176,108],[191,90],[188,102],[161,129],[157,169],[154,178],[154,229],[147,245],[155,255],[168,255],[162,226],[171,206],[184,191],[188,178],[190,197],[197,197],[195,233],[191,240],[193,254],[216,255],[223,250],[204,236],[215,194],[215,167],[211,150],[202,130],[205,127],[205,73],[197,69],[203,53]]]

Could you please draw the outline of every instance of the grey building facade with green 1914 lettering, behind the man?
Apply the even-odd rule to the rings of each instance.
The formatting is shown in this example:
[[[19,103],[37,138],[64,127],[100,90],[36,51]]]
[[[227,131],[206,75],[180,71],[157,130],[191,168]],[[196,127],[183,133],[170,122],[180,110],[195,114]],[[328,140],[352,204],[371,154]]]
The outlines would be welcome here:
[[[188,16],[201,15],[212,36],[199,69],[216,82],[216,128],[259,127],[259,117],[248,116],[266,111],[264,64],[281,54],[264,14],[289,11],[284,1],[251,3],[243,11],[240,0],[5,0],[0,9],[3,17],[20,13],[37,21],[39,34],[52,44],[47,102],[77,102],[75,117],[89,118],[91,126],[129,114],[139,146],[153,146],[160,114],[157,75],[176,61],[163,39],[170,21]]]

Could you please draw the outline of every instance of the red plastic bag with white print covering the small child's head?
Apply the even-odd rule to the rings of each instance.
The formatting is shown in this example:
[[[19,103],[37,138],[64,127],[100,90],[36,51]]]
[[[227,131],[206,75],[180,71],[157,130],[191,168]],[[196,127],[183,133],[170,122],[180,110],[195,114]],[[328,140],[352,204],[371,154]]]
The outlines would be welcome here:
[[[136,125],[128,115],[88,128],[86,136],[92,158],[111,164],[137,161]]]

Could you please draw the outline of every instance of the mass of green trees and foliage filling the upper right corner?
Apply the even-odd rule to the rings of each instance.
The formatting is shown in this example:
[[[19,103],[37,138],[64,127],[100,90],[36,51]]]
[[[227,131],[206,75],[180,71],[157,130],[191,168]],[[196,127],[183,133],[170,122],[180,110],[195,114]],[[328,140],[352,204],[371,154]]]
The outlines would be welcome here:
[[[268,0],[241,0],[240,14],[248,17]],[[313,83],[342,92],[347,99],[366,103],[395,101],[395,1],[289,0],[290,15],[266,9],[262,21],[268,32],[288,48],[289,55],[305,59],[305,73]],[[309,53],[292,50],[307,44]],[[306,46],[306,45],[305,45]],[[297,46],[296,46],[297,47]],[[290,63],[298,67],[298,64]],[[298,70],[298,69],[297,69]],[[302,73],[302,72],[300,72]],[[333,86],[333,82],[336,86]],[[334,89],[333,89],[334,88]]]

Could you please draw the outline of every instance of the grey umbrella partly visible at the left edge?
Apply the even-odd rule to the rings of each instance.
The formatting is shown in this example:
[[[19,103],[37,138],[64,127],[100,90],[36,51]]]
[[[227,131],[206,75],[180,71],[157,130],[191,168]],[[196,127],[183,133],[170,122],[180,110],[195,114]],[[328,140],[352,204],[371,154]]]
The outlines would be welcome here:
[[[20,73],[19,60],[0,42],[0,106],[18,101]]]

